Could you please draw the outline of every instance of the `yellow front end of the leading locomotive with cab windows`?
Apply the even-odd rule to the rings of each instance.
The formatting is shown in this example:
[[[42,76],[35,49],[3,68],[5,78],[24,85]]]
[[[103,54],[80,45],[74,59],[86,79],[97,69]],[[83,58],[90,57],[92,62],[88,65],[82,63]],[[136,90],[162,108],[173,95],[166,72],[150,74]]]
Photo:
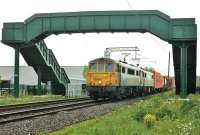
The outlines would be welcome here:
[[[99,58],[89,62],[87,91],[92,98],[106,98],[119,85],[118,67],[115,61]]]

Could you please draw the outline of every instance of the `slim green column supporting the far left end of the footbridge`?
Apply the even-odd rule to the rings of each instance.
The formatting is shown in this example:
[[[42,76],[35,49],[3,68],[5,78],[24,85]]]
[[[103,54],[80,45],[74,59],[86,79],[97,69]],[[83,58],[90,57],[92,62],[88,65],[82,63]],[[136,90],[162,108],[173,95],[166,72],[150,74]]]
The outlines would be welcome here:
[[[15,47],[15,72],[14,72],[14,96],[19,97],[19,52],[20,48]]]

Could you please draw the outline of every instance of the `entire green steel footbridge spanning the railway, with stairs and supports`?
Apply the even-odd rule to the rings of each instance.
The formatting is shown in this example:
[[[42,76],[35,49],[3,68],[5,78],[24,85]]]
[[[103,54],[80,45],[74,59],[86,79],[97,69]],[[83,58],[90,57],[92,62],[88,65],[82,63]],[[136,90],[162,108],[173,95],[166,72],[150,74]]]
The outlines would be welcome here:
[[[44,39],[51,34],[149,32],[173,49],[176,93],[196,91],[197,25],[194,18],[170,18],[157,10],[89,11],[35,14],[24,22],[4,23],[2,42],[15,49],[15,95],[19,91],[19,53],[33,66],[40,83],[51,81],[62,94],[69,79]]]

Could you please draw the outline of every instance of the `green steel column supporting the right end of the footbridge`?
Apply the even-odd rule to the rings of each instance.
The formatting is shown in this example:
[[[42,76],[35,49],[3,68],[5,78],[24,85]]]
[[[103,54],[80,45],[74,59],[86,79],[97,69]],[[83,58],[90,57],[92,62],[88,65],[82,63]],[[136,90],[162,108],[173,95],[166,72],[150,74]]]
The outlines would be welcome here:
[[[180,81],[181,81],[181,98],[187,96],[187,46],[181,46],[181,67],[180,67]]]

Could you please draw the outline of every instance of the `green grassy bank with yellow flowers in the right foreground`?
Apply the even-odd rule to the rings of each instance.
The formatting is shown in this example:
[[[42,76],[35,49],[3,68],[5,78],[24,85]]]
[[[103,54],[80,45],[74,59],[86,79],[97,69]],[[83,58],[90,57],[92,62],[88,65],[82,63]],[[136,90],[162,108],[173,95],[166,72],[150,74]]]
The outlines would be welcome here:
[[[154,95],[50,135],[199,135],[200,95],[188,98],[180,101],[174,91]]]

